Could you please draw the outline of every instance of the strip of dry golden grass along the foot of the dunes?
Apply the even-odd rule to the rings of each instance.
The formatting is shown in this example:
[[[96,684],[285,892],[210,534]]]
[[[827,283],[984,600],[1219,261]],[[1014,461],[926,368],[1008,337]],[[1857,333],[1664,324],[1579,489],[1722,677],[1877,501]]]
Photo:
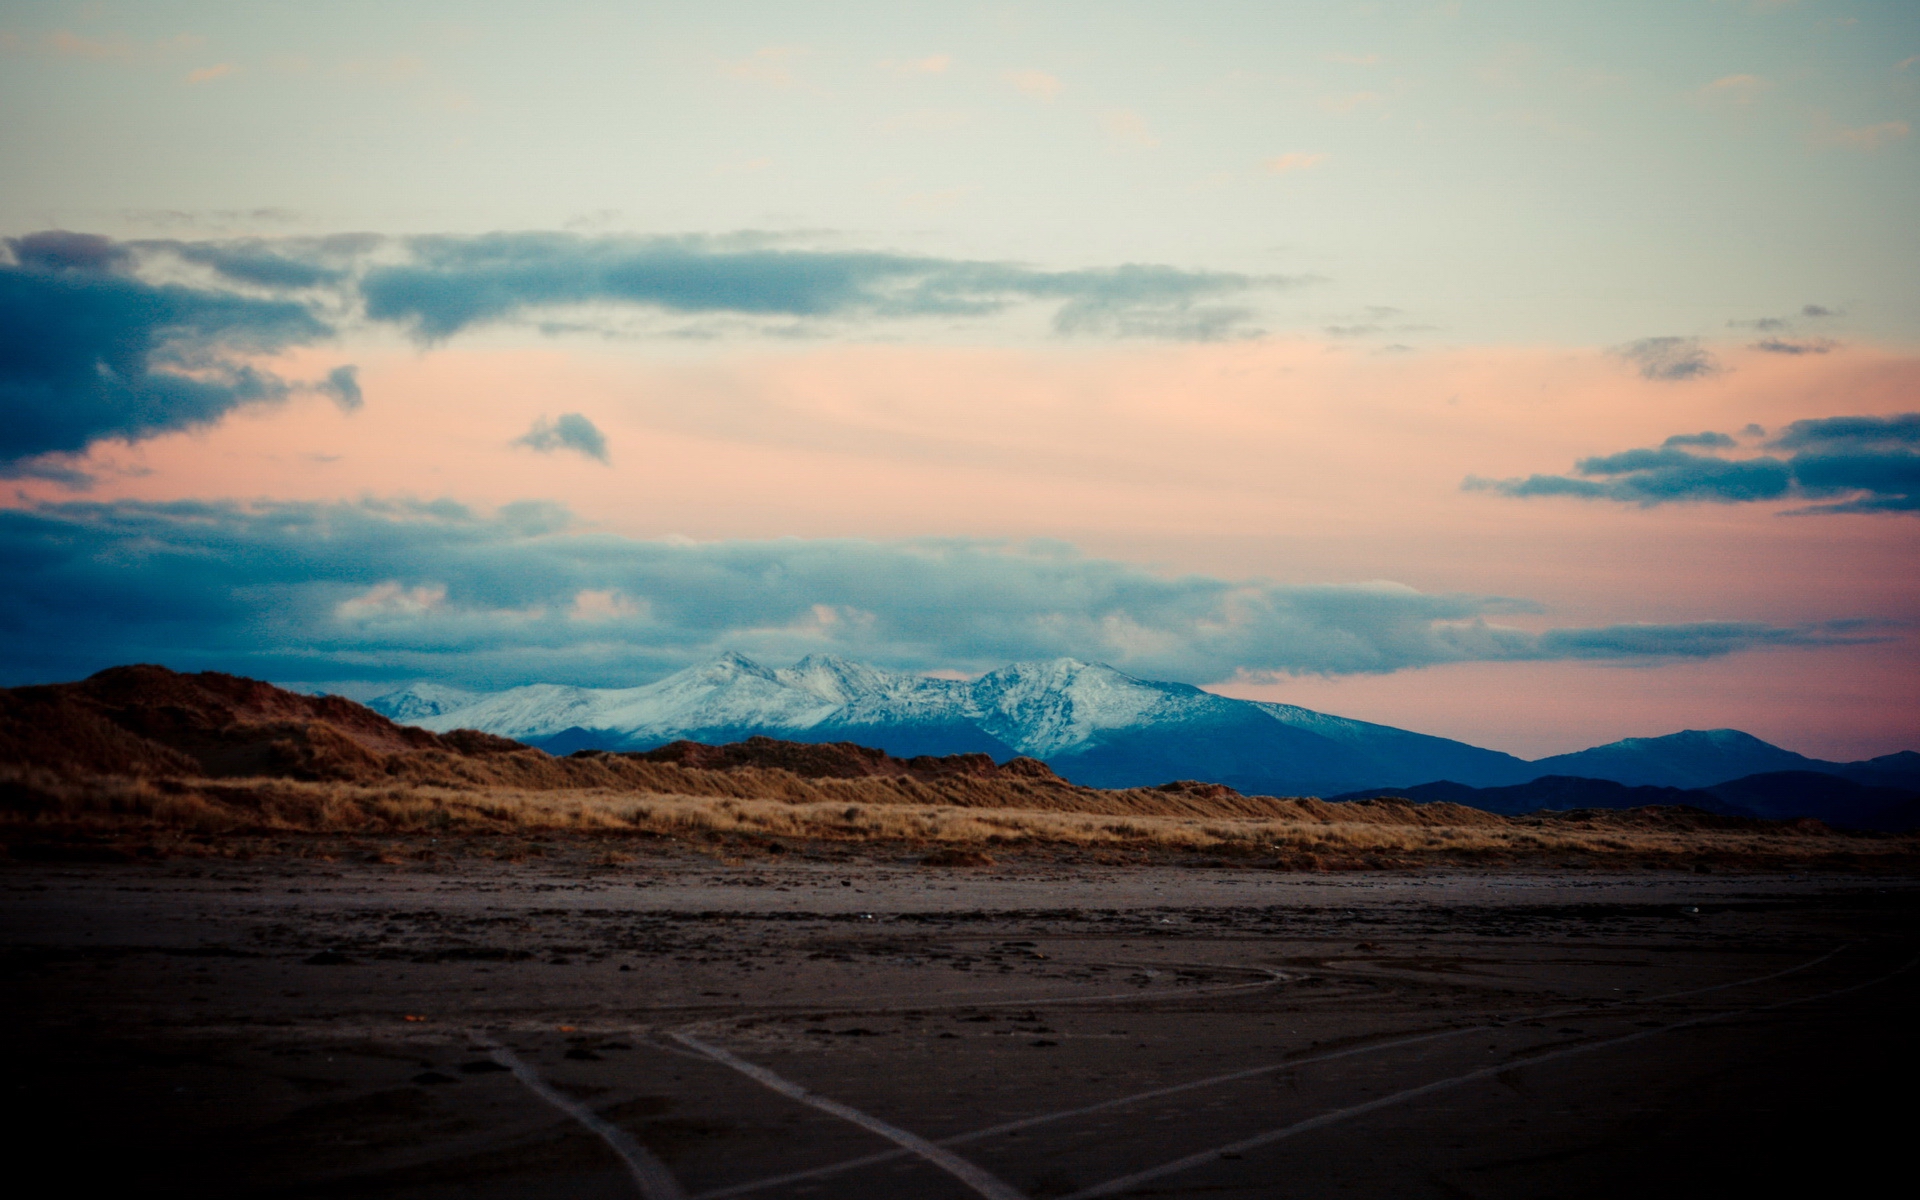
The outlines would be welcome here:
[[[730,783],[785,772],[701,772]],[[351,837],[589,835],[737,847],[772,841],[916,849],[1069,849],[1210,854],[1273,866],[1421,866],[1434,862],[1718,862],[1828,860],[1908,870],[1920,839],[1845,835],[1647,812],[1503,818],[1459,804],[1367,801],[1327,804],[1233,797],[1242,812],[1194,812],[1196,797],[1150,789],[1092,793],[1108,810],[918,803],[912,780],[774,780],[776,795],[637,793],[632,789],[361,785],[298,780],[0,776],[0,831],[23,837]],[[733,787],[730,787],[733,791]],[[749,791],[749,787],[739,787]],[[929,789],[943,791],[943,789]],[[1043,789],[1089,793],[1091,789]],[[781,795],[795,793],[795,795]],[[977,791],[962,789],[973,801]],[[877,797],[877,799],[876,799]],[[1068,795],[1044,799],[1066,801]],[[1129,810],[1131,808],[1131,810]],[[1160,810],[1154,810],[1160,808]]]

